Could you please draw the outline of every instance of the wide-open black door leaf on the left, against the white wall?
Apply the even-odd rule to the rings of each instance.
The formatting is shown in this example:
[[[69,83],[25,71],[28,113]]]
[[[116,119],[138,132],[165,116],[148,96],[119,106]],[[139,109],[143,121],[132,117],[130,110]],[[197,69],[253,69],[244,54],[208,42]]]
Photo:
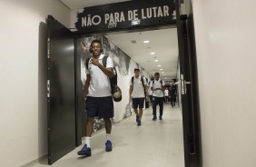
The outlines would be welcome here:
[[[75,148],[74,37],[48,16],[48,163]]]

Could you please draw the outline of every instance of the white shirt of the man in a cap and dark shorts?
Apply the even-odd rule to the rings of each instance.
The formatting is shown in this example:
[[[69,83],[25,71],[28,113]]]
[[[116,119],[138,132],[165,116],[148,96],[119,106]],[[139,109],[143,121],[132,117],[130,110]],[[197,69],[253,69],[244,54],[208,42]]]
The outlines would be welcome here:
[[[132,78],[130,80],[130,85],[133,85],[133,98],[145,98],[145,93],[144,93],[144,88],[143,88],[143,83],[141,80],[141,75],[136,78],[135,76],[133,77],[133,83],[132,83]],[[146,78],[143,77],[143,82],[145,87],[148,85]]]

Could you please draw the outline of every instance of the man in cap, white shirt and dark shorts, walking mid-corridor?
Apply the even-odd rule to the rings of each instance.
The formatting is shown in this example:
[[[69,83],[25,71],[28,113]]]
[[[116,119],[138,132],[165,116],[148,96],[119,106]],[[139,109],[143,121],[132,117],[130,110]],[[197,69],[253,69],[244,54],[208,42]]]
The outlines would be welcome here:
[[[129,94],[130,102],[133,101],[133,111],[136,113],[137,125],[141,126],[144,101],[148,102],[148,83],[145,77],[140,75],[140,69],[138,68],[134,69],[134,76],[130,80]]]

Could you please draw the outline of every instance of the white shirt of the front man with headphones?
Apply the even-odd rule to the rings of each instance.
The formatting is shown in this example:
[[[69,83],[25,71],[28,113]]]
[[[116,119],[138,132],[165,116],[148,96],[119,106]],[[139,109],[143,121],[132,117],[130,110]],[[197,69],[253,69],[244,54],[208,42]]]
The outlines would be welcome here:
[[[103,64],[103,56],[104,54],[101,54],[99,57],[100,64]],[[85,73],[91,74],[91,82],[87,95],[92,97],[111,96],[109,77],[103,74],[103,71],[98,66],[92,64],[91,59],[88,64],[88,69],[85,67]],[[113,67],[113,61],[111,57],[108,57],[106,60],[106,68],[110,67]]]

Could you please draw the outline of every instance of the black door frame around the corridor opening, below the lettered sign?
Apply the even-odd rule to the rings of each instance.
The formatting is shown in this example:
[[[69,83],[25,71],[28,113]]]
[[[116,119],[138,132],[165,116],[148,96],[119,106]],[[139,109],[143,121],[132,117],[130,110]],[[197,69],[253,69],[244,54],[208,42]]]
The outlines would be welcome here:
[[[177,27],[177,34],[178,34],[178,40],[182,41],[182,19],[181,19],[181,15],[180,15],[180,2],[179,0],[175,0],[175,10],[176,10],[176,24],[169,24],[169,25],[151,25],[151,26],[137,26],[137,27],[133,27],[133,28],[126,28],[123,30],[106,30],[106,31],[101,31],[101,32],[94,32],[94,33],[88,33],[86,35],[90,35],[90,34],[114,34],[114,33],[130,33],[130,32],[137,32],[138,30],[154,30],[154,29],[163,29],[163,28],[172,28],[172,27]],[[190,32],[187,32],[188,34],[190,34]],[[74,32],[74,57],[75,57],[75,64],[74,64],[74,71],[75,71],[75,146],[79,146],[82,143],[82,136],[83,136],[83,131],[84,131],[84,127],[83,127],[83,123],[82,120],[80,119],[84,113],[84,105],[83,105],[83,101],[82,101],[82,89],[83,87],[81,86],[81,56],[79,54],[79,43],[77,43],[77,39],[80,38],[82,35],[84,35],[85,33],[75,33]],[[190,40],[188,40],[188,44],[190,45]],[[179,46],[179,51],[180,53],[182,53],[182,50],[184,50],[184,46],[181,44],[181,42],[179,42],[178,44]],[[192,45],[192,47],[195,48],[194,45]],[[190,52],[190,50],[189,50]],[[181,58],[182,54],[179,55],[179,58]],[[192,60],[192,62],[194,62],[195,60]],[[190,62],[190,63],[192,63]],[[180,62],[181,64],[181,62]],[[191,66],[189,67],[191,74],[190,74],[190,79],[192,80],[192,82],[196,82],[197,83],[197,74],[196,71],[194,70],[196,68],[196,64],[193,64],[193,67],[191,68]],[[182,69],[181,69],[181,74],[182,74]],[[192,84],[191,89],[193,89],[195,87],[195,84]],[[194,96],[196,96],[196,93],[192,93],[191,95],[191,105],[193,106],[194,103],[199,103],[198,98],[193,98]],[[183,102],[182,102],[182,106],[183,106]],[[183,107],[184,108],[184,107]],[[185,111],[186,110],[186,111]],[[185,167],[195,167],[195,166],[200,166],[199,164],[199,155],[200,150],[199,150],[199,145],[200,145],[200,141],[199,140],[194,140],[193,142],[197,142],[196,144],[196,153],[192,153],[189,152],[190,151],[190,129],[189,126],[191,125],[191,122],[189,122],[189,119],[196,119],[193,120],[192,123],[195,123],[194,129],[198,130],[199,129],[199,120],[197,119],[198,116],[193,114],[193,117],[191,117],[192,115],[190,115],[188,113],[188,107],[186,109],[184,109],[184,111],[182,111],[182,118],[183,118],[183,140],[184,140],[184,162],[185,162]],[[194,112],[193,112],[194,113]],[[194,124],[193,124],[194,125]],[[197,136],[195,136],[196,139],[199,139],[199,133],[196,133]]]

